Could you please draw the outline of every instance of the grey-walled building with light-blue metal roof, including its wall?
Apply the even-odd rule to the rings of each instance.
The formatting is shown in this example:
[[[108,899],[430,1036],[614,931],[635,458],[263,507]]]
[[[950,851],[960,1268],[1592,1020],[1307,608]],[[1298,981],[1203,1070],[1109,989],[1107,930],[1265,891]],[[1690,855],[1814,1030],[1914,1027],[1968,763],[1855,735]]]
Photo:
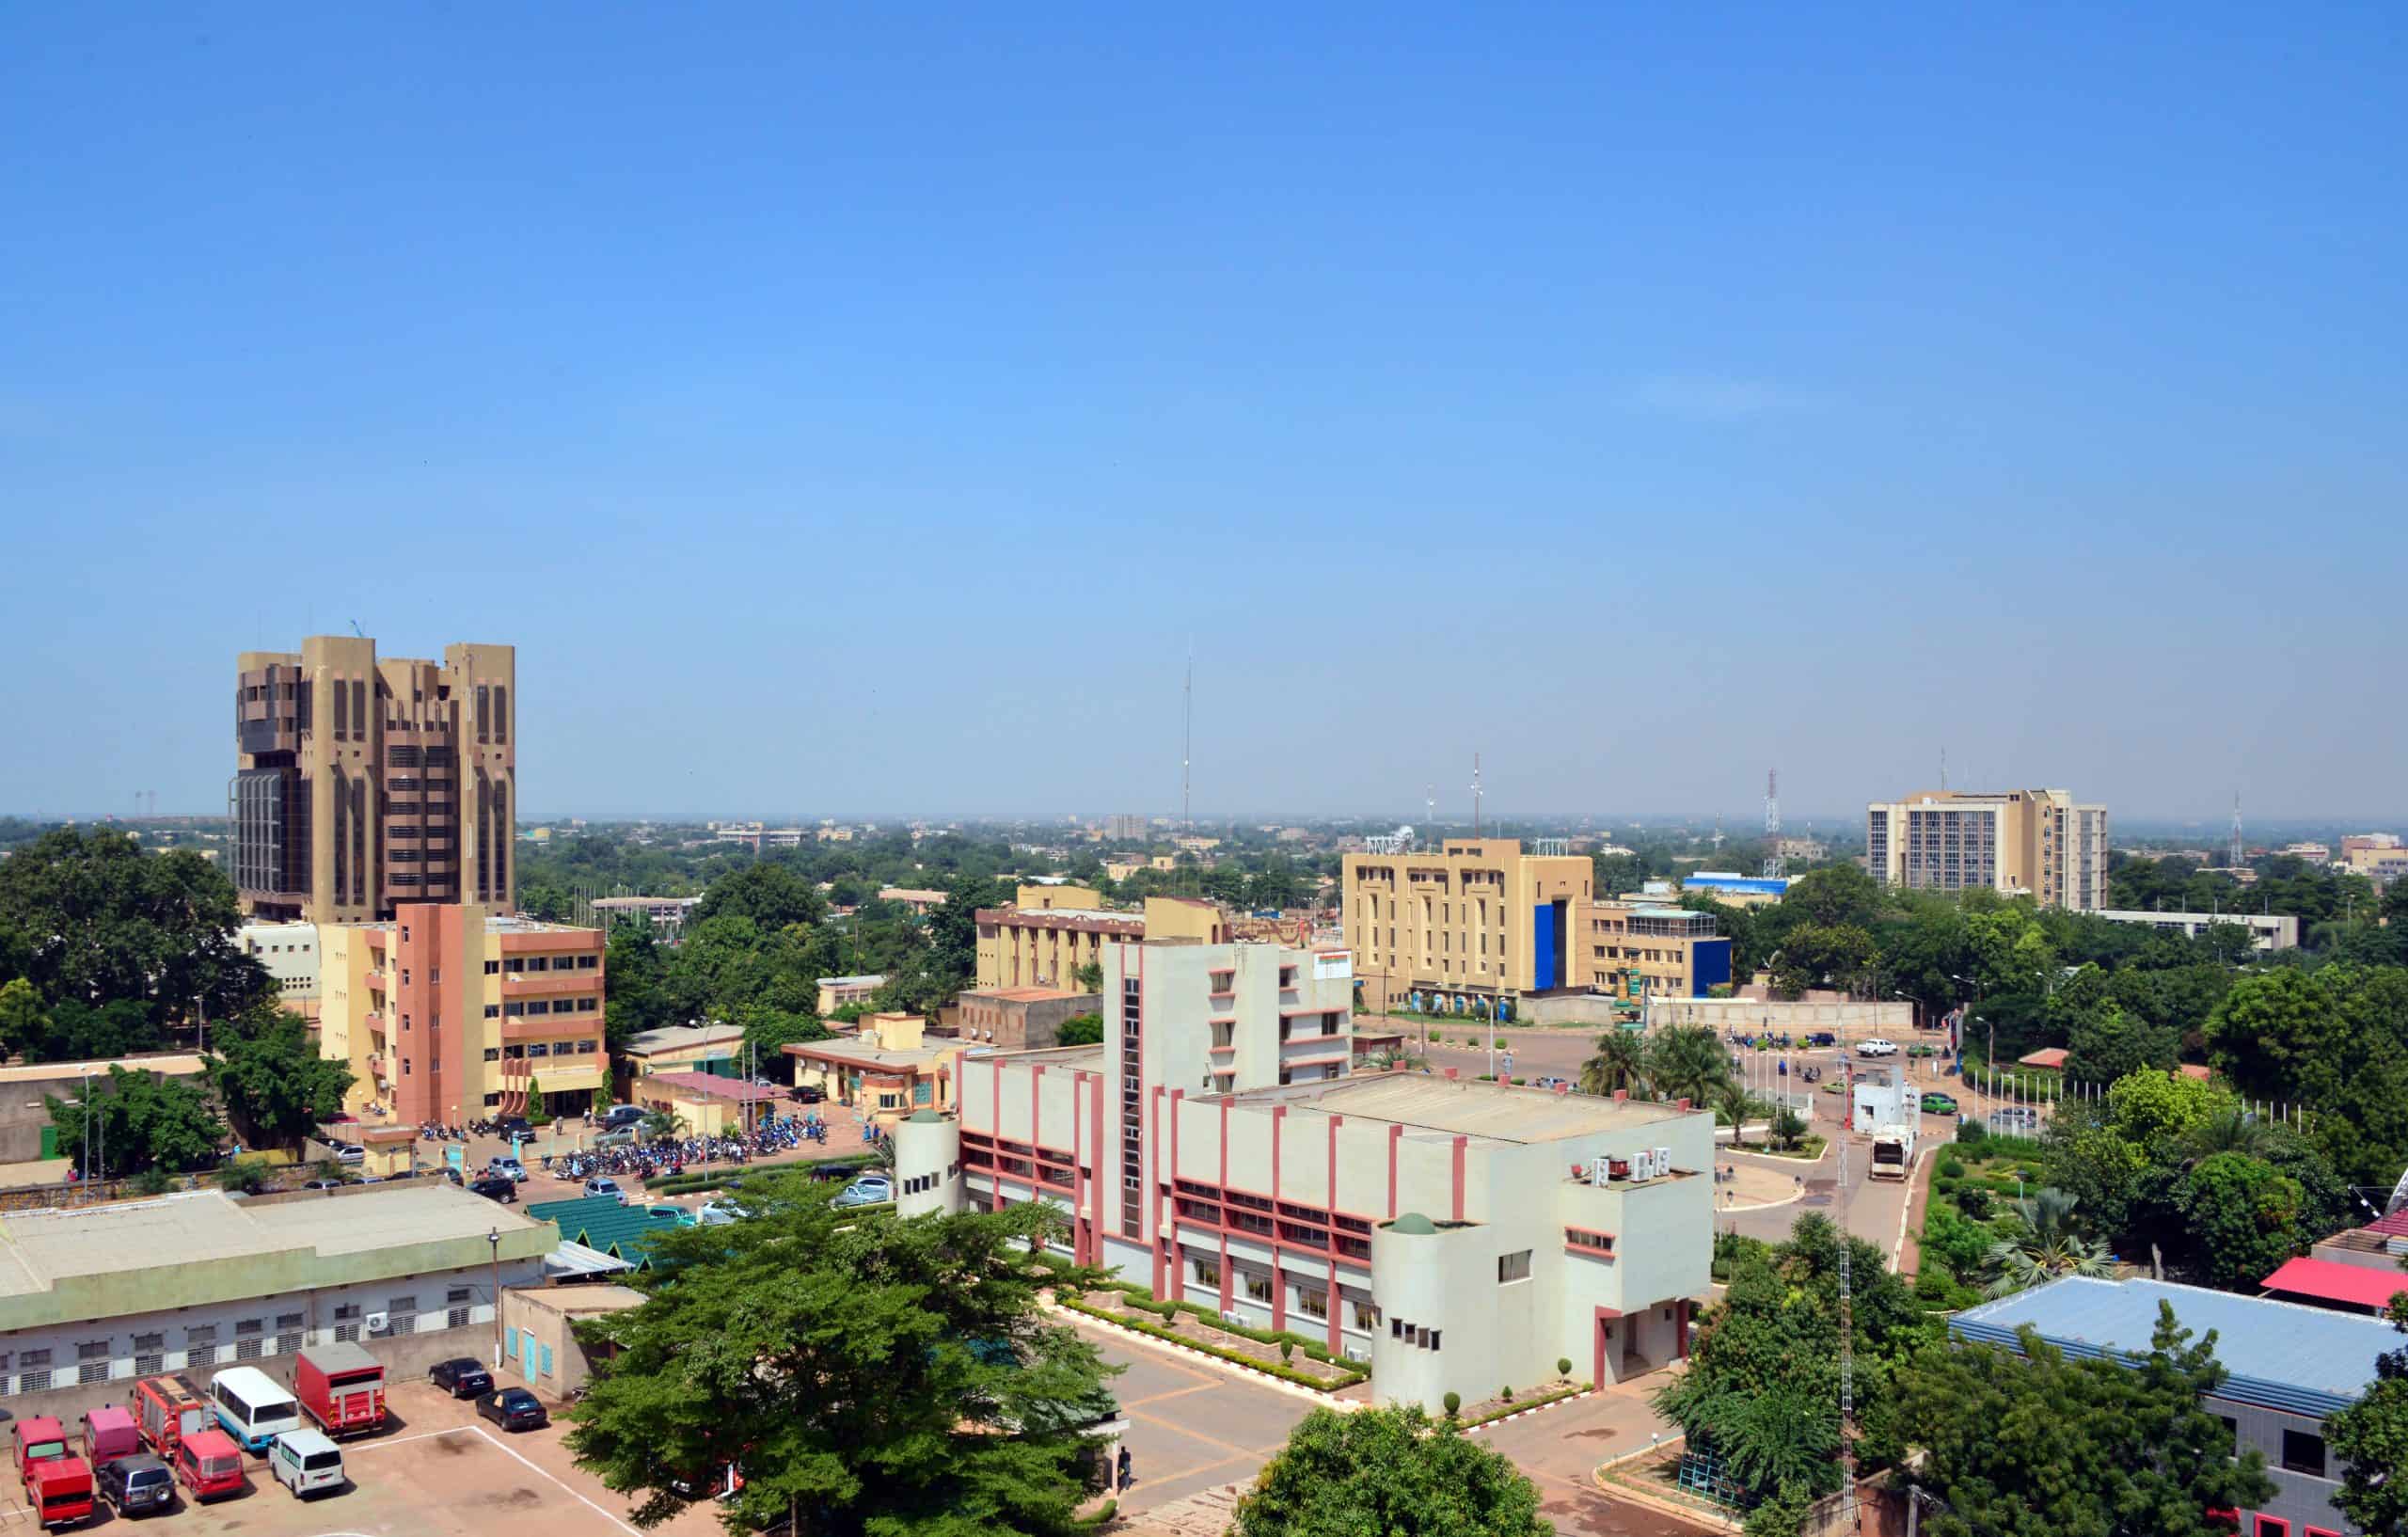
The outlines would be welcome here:
[[[2235,1296],[2172,1282],[2061,1277],[2015,1296],[1967,1308],[1948,1320],[1958,1339],[2018,1349],[2030,1325],[2068,1356],[2148,1354],[2158,1306],[2206,1337],[2232,1376],[2208,1395],[2208,1409],[2232,1426],[2237,1448],[2266,1453],[2276,1496],[2242,1510],[2251,1537],[2341,1537],[2353,1530],[2333,1508],[2341,1462],[2324,1445],[2326,1417],[2350,1407],[2374,1380],[2374,1361],[2398,1347],[2379,1318],[2304,1308],[2264,1296]]]

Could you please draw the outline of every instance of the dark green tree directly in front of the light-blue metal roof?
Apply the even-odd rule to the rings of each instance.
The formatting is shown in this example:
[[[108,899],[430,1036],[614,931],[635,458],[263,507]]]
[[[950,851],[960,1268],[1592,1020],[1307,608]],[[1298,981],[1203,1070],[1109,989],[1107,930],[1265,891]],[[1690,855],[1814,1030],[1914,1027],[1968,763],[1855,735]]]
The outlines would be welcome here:
[[[2215,1335],[2191,1344],[2170,1306],[2131,1366],[2066,1361],[2032,1330],[2020,1349],[1931,1349],[1900,1378],[1917,1482],[1946,1501],[1931,1537],[2230,1537],[2208,1510],[2273,1498],[2264,1455],[2232,1458],[2201,1404],[2225,1380]]]

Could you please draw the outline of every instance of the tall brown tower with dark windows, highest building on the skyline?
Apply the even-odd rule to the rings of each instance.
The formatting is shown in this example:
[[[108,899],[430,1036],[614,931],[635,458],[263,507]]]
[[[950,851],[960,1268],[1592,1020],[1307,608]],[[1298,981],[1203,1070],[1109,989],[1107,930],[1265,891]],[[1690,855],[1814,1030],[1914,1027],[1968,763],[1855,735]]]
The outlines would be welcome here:
[[[234,887],[262,920],[366,923],[405,901],[515,906],[518,658],[443,662],[311,636],[236,658]]]

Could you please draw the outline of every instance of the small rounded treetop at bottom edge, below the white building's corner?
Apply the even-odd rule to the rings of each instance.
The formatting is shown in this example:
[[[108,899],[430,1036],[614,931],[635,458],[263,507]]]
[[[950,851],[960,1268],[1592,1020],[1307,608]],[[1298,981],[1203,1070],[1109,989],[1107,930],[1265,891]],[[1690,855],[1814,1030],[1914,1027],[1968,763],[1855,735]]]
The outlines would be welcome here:
[[[1546,1537],[1539,1489],[1421,1404],[1315,1409],[1238,1501],[1235,1537]]]

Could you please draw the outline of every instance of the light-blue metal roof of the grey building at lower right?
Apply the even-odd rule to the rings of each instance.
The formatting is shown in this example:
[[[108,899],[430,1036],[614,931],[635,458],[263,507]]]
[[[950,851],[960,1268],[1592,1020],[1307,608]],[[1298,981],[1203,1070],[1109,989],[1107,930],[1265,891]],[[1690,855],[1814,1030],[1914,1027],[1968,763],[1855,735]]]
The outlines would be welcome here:
[[[2321,1419],[2348,1409],[2374,1380],[2374,1359],[2401,1344],[2389,1323],[2362,1313],[2172,1282],[2088,1277],[2064,1277],[1967,1308],[1948,1320],[1948,1332],[2013,1349],[2015,1327],[2028,1323],[2068,1356],[2148,1354],[2160,1301],[2174,1306],[2174,1320],[2194,1339],[2215,1330],[2215,1359],[2232,1373],[2215,1397],[2285,1414]]]

